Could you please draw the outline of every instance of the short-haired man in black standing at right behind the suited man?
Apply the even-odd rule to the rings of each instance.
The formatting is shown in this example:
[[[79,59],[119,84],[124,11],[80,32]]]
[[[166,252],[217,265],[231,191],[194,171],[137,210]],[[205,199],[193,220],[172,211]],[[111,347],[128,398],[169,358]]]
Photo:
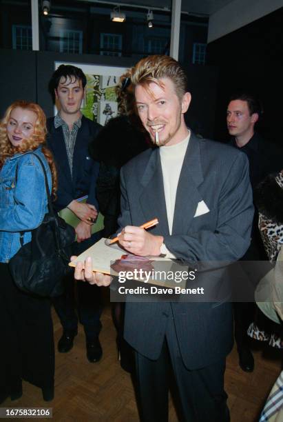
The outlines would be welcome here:
[[[249,159],[249,175],[254,189],[268,174],[282,169],[282,151],[273,143],[266,142],[255,125],[262,115],[260,101],[252,94],[234,94],[227,107],[227,128],[231,135],[230,145],[244,152]],[[266,260],[262,239],[258,230],[258,212],[255,210],[251,245],[241,261]],[[246,265],[242,268],[245,271]],[[255,316],[255,304],[251,302],[234,303],[235,341],[237,343],[239,365],[245,372],[253,372],[254,359],[249,348],[247,331]]]

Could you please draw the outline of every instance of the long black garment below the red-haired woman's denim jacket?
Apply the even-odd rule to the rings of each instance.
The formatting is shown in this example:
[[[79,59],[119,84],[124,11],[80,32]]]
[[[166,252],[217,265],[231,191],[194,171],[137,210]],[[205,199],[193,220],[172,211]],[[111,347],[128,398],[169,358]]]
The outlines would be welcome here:
[[[50,300],[21,292],[7,263],[0,263],[0,396],[21,380],[54,388],[54,336]]]

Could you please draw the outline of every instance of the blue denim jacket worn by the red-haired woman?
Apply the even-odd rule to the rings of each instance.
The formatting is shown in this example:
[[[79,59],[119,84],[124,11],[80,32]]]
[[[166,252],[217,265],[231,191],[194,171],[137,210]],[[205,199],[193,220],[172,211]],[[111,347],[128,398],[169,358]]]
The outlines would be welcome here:
[[[34,152],[45,165],[51,190],[48,161],[41,148]],[[30,242],[31,230],[41,224],[46,212],[48,199],[39,160],[28,152],[8,158],[0,170],[0,262],[8,263],[21,248],[20,232],[24,232],[23,244]]]

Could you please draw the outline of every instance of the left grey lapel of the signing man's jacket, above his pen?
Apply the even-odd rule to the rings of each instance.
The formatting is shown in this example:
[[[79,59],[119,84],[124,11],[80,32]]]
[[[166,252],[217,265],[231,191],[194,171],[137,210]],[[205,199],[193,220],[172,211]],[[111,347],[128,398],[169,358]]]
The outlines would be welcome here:
[[[143,190],[140,194],[140,208],[145,215],[145,221],[158,217],[159,224],[156,226],[155,233],[168,235],[169,228],[159,148],[152,151],[141,184]]]

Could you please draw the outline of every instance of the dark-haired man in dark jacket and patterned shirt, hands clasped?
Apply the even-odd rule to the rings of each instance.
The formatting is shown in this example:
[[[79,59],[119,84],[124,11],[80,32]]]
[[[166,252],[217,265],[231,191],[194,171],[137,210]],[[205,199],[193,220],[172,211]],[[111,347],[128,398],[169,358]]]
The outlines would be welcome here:
[[[60,211],[69,208],[81,221],[76,225],[77,241],[72,252],[80,254],[99,239],[92,235],[92,224],[98,214],[96,179],[99,164],[88,152],[101,126],[81,114],[86,77],[76,66],[61,65],[50,79],[50,93],[56,98],[59,112],[48,119],[48,147],[54,155],[58,170],[58,191],[54,206]],[[80,201],[87,196],[86,202]],[[65,280],[65,294],[54,298],[54,308],[63,325],[63,335],[58,343],[59,352],[72,349],[78,332],[75,311],[74,279]],[[101,359],[102,349],[98,339],[101,330],[100,290],[96,286],[77,283],[78,316],[86,336],[87,359]]]

